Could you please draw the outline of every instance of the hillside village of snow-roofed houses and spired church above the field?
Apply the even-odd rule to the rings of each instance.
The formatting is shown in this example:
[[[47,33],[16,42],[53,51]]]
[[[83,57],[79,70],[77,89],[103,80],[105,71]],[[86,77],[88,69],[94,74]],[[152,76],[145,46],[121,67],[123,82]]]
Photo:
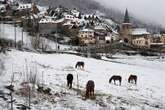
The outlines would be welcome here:
[[[85,14],[77,9],[67,9],[62,6],[46,8],[37,3],[25,4],[1,0],[0,8],[1,23],[21,26],[23,31],[36,39],[45,37],[63,44],[80,47],[91,46],[91,48],[95,47],[95,51],[98,48],[101,48],[102,51],[110,48],[109,51],[111,51],[114,43],[127,44],[134,50],[147,49],[160,53],[165,51],[165,34],[152,34],[145,27],[134,27],[127,9],[123,23],[117,24],[111,19],[102,18],[97,13]],[[67,41],[64,36],[67,37]],[[15,37],[17,36],[15,35]],[[1,35],[1,42],[4,39],[5,36]],[[13,43],[18,44],[16,41]],[[15,44],[7,45],[14,46]],[[20,41],[19,45],[23,45],[23,41],[22,44]]]

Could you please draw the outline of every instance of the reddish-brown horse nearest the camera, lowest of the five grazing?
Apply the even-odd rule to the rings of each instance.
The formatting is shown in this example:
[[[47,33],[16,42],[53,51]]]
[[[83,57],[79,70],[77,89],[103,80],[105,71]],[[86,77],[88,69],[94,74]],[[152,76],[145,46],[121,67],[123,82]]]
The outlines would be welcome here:
[[[89,80],[86,85],[86,94],[85,98],[93,98],[94,97],[94,88],[95,83],[92,80]]]

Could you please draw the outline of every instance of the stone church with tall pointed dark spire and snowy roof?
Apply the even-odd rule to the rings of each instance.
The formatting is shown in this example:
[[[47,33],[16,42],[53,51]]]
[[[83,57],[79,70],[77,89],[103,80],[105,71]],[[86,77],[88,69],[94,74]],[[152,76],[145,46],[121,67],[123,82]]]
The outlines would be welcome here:
[[[145,28],[134,28],[130,22],[128,10],[125,11],[123,23],[120,26],[120,37],[125,43],[138,47],[149,47],[151,34]]]

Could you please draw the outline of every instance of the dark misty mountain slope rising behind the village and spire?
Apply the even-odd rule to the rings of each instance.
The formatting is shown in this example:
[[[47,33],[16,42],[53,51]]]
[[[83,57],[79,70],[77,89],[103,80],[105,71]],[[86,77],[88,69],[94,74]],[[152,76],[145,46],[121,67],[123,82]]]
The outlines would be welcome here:
[[[27,2],[27,0],[21,0],[21,1]],[[32,0],[32,1],[42,6],[57,7],[59,5],[62,5],[66,8],[77,8],[84,13],[95,13],[96,11],[100,11],[101,13],[106,13],[105,14],[106,18],[110,18],[118,24],[123,22],[124,11],[121,12],[112,7],[107,8],[94,0]],[[145,27],[152,33],[160,32],[163,30],[161,26],[158,24],[147,23],[145,21],[135,18],[134,15],[131,14],[130,16],[131,16],[131,22],[134,24],[135,27],[143,27],[143,28]]]

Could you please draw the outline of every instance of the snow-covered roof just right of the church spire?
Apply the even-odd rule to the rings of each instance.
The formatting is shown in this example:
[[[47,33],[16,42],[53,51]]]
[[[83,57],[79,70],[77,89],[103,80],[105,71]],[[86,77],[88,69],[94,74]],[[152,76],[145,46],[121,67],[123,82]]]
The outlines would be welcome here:
[[[150,34],[147,32],[147,29],[145,28],[135,28],[132,30],[132,35],[148,35]]]

